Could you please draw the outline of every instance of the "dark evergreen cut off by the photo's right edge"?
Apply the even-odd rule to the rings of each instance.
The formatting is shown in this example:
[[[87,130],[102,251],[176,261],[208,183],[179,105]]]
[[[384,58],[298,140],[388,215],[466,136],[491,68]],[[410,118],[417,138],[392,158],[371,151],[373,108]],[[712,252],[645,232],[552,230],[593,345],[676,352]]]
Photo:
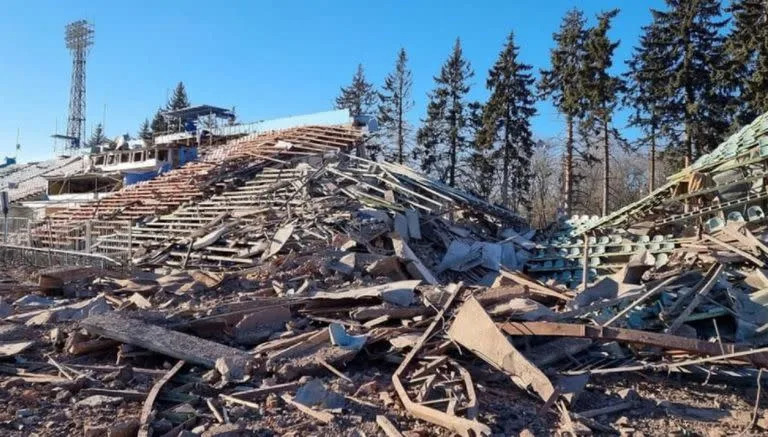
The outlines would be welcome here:
[[[734,0],[726,40],[730,58],[729,79],[739,90],[739,126],[768,111],[768,4],[765,0]]]

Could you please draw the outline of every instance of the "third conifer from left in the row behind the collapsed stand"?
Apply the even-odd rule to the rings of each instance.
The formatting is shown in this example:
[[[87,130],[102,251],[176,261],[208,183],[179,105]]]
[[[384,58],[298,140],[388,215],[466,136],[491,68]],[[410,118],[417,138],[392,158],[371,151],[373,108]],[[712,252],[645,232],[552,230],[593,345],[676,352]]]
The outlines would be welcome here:
[[[460,161],[469,145],[466,96],[467,81],[473,75],[472,67],[462,54],[461,41],[456,38],[453,52],[434,78],[427,117],[416,134],[414,156],[418,157],[422,169],[454,187]]]

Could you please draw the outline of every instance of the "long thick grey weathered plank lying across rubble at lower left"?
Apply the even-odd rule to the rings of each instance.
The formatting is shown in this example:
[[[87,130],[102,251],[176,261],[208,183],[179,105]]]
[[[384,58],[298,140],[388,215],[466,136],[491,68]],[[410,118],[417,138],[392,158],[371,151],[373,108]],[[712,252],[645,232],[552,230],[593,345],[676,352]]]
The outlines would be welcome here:
[[[250,357],[243,351],[193,335],[171,331],[118,313],[91,316],[80,322],[91,334],[143,347],[169,357],[205,367],[224,358],[246,369]]]

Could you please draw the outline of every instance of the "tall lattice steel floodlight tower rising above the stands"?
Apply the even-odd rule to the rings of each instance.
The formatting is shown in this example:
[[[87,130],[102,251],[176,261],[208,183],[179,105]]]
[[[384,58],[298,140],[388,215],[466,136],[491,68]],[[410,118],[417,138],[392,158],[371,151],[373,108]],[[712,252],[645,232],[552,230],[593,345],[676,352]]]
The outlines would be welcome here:
[[[72,87],[69,91],[67,137],[70,149],[85,143],[85,58],[93,45],[93,25],[85,20],[67,24],[64,33],[72,52]]]

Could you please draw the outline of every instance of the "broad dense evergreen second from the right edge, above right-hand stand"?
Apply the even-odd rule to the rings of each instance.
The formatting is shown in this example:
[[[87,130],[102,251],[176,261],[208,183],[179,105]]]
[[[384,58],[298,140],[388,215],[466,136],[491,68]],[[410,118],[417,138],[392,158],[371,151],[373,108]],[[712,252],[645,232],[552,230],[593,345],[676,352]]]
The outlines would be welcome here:
[[[722,75],[727,71],[718,0],[666,0],[667,10],[651,9],[659,29],[662,64],[669,68],[661,121],[682,127],[670,132],[668,151],[685,165],[712,150],[726,133],[732,104]]]

